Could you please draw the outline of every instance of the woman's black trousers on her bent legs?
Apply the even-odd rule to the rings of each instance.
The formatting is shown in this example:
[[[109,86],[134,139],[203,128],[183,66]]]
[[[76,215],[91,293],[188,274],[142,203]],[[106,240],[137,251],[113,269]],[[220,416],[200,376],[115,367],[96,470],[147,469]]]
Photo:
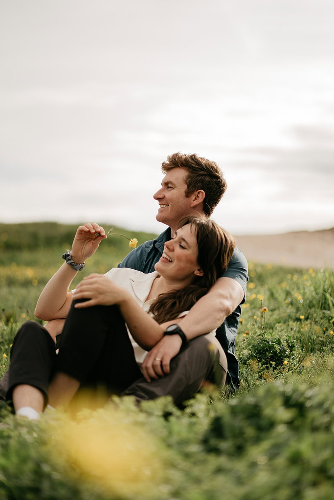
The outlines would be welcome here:
[[[50,335],[38,323],[27,321],[11,347],[6,398],[21,383],[37,387],[47,401],[55,371],[76,378],[81,387],[103,385],[120,394],[141,376],[124,320],[117,306],[70,308],[61,333],[59,353]]]

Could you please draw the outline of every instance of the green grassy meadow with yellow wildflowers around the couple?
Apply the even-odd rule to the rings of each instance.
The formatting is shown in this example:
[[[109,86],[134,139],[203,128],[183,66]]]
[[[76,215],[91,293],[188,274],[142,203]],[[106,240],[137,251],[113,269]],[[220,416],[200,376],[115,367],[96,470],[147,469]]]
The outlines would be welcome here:
[[[0,224],[1,374],[75,228]],[[115,232],[139,243],[153,237]],[[77,279],[106,272],[128,251],[124,238],[102,241]],[[241,384],[228,397],[207,389],[183,410],[169,398],[141,410],[115,398],[75,422],[52,414],[30,423],[2,409],[0,498],[329,500],[333,278],[326,269],[250,263],[236,346]]]

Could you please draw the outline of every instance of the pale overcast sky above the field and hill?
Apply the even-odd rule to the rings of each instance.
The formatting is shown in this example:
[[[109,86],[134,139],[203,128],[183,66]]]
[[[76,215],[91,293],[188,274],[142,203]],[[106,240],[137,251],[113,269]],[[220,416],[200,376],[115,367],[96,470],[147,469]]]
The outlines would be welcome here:
[[[334,226],[332,0],[0,0],[0,221],[160,232],[167,154],[234,234]]]

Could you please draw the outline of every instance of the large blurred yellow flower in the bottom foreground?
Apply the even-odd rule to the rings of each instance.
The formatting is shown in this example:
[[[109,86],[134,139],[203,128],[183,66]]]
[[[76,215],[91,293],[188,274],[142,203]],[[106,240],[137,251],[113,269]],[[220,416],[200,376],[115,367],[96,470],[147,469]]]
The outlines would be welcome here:
[[[52,432],[55,448],[85,479],[121,496],[153,494],[163,470],[161,444],[124,411],[108,407],[82,421],[64,418]]]

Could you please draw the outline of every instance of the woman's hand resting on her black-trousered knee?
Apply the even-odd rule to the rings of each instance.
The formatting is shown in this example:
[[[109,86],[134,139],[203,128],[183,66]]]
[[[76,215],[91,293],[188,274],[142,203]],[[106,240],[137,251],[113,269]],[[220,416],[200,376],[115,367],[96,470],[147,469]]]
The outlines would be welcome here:
[[[127,292],[115,285],[104,274],[89,274],[80,281],[73,293],[73,300],[86,298],[85,302],[77,302],[74,307],[90,307],[92,305],[119,304],[127,296]]]

